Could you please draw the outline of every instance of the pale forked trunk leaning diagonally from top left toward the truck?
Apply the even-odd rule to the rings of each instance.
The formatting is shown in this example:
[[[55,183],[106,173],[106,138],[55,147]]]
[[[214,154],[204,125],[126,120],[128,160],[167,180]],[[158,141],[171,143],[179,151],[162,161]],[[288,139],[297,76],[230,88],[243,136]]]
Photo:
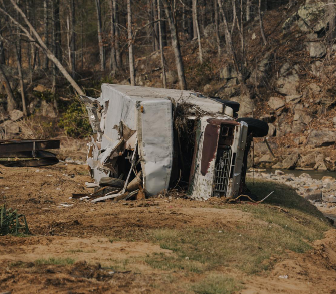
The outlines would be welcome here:
[[[19,12],[21,17],[23,18],[24,22],[28,26],[30,32],[34,35],[36,40],[33,38],[33,36],[23,27],[21,26],[13,17],[11,17],[8,13],[6,13],[3,9],[0,9],[2,13],[7,15],[11,21],[16,24],[28,37],[28,39],[32,42],[36,42],[40,45],[41,49],[44,51],[45,54],[48,55],[48,58],[55,63],[57,68],[60,70],[60,72],[63,74],[63,76],[68,80],[68,82],[71,84],[71,86],[76,90],[76,92],[79,95],[85,95],[83,90],[78,86],[78,84],[74,81],[74,79],[69,75],[69,73],[66,71],[66,69],[63,67],[63,65],[59,62],[59,60],[56,58],[56,56],[48,49],[46,44],[44,44],[43,40],[41,39],[40,35],[37,33],[37,31],[34,29],[32,24],[28,21],[26,15],[24,12],[18,7],[18,5],[15,3],[15,0],[10,0],[12,5],[14,6],[15,10]]]

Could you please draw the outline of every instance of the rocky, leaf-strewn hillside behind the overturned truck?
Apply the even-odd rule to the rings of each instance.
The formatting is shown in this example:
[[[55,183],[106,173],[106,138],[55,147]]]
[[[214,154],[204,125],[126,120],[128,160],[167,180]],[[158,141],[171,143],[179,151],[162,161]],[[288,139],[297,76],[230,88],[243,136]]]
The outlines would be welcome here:
[[[246,63],[241,72],[250,95],[241,92],[237,72],[225,53],[225,44],[218,56],[213,25],[203,32],[203,64],[198,61],[197,40],[183,42],[188,88],[240,102],[240,117],[256,117],[268,123],[268,145],[263,139],[255,141],[257,166],[336,170],[336,44],[328,38],[327,2],[294,2],[290,8],[281,6],[266,11],[263,21],[267,45],[262,45],[257,16],[245,27]],[[220,33],[224,40],[222,25]],[[237,39],[234,39],[235,46],[239,47],[239,35],[234,38]],[[164,51],[169,69],[168,87],[178,88],[173,50],[165,47]],[[143,55],[135,60],[136,83],[162,87],[159,51],[143,52]],[[88,90],[88,95],[97,95],[103,81],[129,83],[126,69],[108,80],[104,78],[106,73],[101,72],[82,76],[86,88],[96,89]],[[36,88],[37,84],[44,84],[47,92],[51,88],[50,80],[37,75],[35,84],[27,91],[44,93],[43,87]],[[66,93],[63,96],[66,97]],[[41,105],[38,113],[49,116],[49,124],[50,119],[59,119],[56,117],[58,113],[53,111],[52,101],[46,99],[47,102],[34,104],[37,103],[36,95],[31,97],[28,104],[31,113]],[[12,122],[4,123],[14,131],[20,131]]]

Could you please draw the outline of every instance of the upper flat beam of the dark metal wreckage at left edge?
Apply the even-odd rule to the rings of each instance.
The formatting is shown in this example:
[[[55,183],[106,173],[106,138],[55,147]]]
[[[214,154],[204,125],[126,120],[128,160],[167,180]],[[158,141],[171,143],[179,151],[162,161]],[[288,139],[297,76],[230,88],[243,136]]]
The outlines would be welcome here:
[[[60,140],[0,140],[0,156],[2,153],[38,151],[60,148]]]

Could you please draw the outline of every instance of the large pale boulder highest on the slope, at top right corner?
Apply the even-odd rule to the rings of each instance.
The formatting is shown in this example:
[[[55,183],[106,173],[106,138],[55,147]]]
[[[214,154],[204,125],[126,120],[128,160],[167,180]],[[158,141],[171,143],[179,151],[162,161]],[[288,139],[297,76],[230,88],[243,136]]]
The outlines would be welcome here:
[[[321,32],[327,27],[327,6],[324,2],[313,1],[299,7],[297,14],[304,24],[314,32]]]

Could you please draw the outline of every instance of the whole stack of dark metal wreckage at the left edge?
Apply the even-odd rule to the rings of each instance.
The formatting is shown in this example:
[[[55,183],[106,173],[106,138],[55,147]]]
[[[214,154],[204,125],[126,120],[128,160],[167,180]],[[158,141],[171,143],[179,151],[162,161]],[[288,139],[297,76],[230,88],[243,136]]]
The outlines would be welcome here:
[[[56,154],[46,149],[60,148],[60,140],[0,140],[0,164],[6,167],[40,167],[59,162]],[[20,160],[21,159],[21,160]]]

